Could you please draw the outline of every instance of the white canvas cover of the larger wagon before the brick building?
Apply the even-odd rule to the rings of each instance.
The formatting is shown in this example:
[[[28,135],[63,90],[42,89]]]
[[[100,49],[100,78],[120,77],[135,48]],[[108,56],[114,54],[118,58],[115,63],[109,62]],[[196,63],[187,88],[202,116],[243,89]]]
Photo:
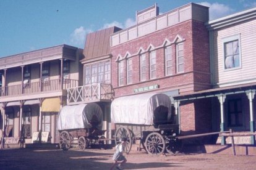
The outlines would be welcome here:
[[[154,111],[160,105],[168,107],[168,119],[170,119],[171,99],[166,94],[119,97],[111,103],[111,122],[152,125]]]

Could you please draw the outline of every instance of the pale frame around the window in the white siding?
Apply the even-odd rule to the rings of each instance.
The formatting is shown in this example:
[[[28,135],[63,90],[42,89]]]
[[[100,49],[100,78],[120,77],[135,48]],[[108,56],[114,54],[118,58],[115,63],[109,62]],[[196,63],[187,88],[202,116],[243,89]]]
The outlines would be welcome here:
[[[234,68],[225,68],[225,47],[224,44],[226,42],[231,42],[231,41],[235,41],[238,39],[238,44],[239,44],[239,67],[234,67]],[[240,34],[236,34],[233,36],[228,36],[226,38],[222,39],[222,51],[223,51],[223,55],[222,55],[222,61],[223,61],[223,70],[224,71],[232,71],[232,70],[237,70],[237,69],[241,69],[242,68],[242,56],[241,56],[241,38],[240,38]]]

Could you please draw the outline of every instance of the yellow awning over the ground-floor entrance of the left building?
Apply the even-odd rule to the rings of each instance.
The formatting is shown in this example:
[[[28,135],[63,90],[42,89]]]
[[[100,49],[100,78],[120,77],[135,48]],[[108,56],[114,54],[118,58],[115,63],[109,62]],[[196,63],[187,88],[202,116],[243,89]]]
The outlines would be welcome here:
[[[59,97],[43,100],[41,111],[59,112],[61,110],[61,100]]]

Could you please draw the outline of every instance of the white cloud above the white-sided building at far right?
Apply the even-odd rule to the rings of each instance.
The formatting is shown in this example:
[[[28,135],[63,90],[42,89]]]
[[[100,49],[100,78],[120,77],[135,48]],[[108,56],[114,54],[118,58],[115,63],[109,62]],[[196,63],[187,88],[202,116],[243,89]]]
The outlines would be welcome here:
[[[231,7],[225,4],[219,4],[218,2],[215,2],[213,4],[210,4],[209,2],[200,2],[198,4],[209,7],[210,20],[224,17],[225,15],[229,15],[234,12],[234,9],[232,9]]]

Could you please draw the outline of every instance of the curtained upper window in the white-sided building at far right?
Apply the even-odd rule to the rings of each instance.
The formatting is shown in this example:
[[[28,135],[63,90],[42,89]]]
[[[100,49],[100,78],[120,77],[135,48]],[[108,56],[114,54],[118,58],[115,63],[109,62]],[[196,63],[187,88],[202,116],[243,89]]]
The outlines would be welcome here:
[[[241,68],[240,36],[223,39],[224,69]]]

